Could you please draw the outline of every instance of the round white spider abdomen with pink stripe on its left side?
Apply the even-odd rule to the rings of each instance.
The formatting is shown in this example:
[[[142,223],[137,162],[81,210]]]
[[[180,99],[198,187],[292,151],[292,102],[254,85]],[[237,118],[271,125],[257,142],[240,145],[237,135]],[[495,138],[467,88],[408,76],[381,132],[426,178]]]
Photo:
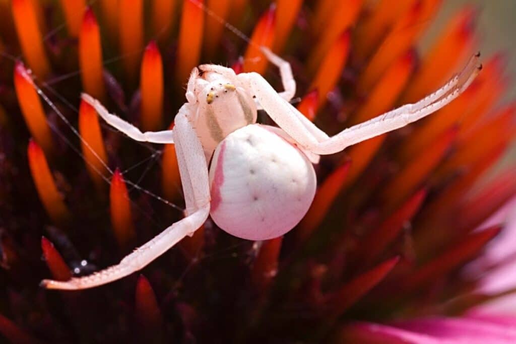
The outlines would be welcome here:
[[[215,223],[250,240],[291,230],[308,211],[316,189],[308,158],[260,124],[235,130],[217,146],[209,181]]]

